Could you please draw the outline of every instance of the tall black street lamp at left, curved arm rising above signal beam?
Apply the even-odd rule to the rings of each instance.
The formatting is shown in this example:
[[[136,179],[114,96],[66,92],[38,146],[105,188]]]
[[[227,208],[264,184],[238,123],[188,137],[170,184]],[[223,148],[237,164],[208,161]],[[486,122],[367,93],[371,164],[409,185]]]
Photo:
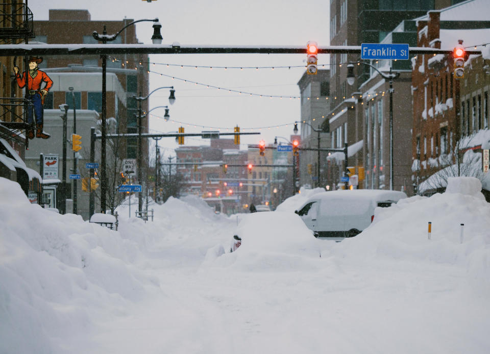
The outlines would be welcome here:
[[[104,25],[104,31],[102,34],[97,33],[97,31],[93,31],[92,37],[95,38],[98,41],[101,41],[102,43],[107,43],[115,40],[117,36],[124,31],[127,27],[131,26],[132,24],[135,24],[137,22],[143,22],[143,21],[151,21],[154,22],[153,24],[153,29],[154,33],[152,36],[152,42],[153,44],[161,44],[162,43],[162,35],[160,34],[160,29],[162,28],[162,25],[160,22],[158,22],[158,18],[155,18],[153,20],[151,19],[142,19],[142,20],[137,20],[133,21],[131,23],[128,23],[125,27],[123,27],[119,32],[116,34],[108,35],[106,26]],[[102,112],[101,112],[101,212],[105,213],[106,212],[106,193],[107,193],[107,179],[106,179],[106,116],[107,116],[107,83],[106,83],[106,71],[107,71],[107,55],[103,54],[101,55],[102,59]],[[141,211],[141,210],[140,210]]]

